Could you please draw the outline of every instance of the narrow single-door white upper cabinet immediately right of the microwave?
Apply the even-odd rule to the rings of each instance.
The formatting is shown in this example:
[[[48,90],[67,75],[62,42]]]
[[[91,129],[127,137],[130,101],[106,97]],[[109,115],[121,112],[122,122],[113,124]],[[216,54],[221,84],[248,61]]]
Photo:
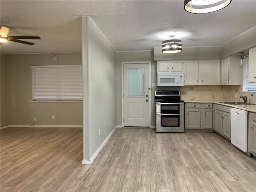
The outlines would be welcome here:
[[[198,60],[184,61],[184,85],[198,85]]]

